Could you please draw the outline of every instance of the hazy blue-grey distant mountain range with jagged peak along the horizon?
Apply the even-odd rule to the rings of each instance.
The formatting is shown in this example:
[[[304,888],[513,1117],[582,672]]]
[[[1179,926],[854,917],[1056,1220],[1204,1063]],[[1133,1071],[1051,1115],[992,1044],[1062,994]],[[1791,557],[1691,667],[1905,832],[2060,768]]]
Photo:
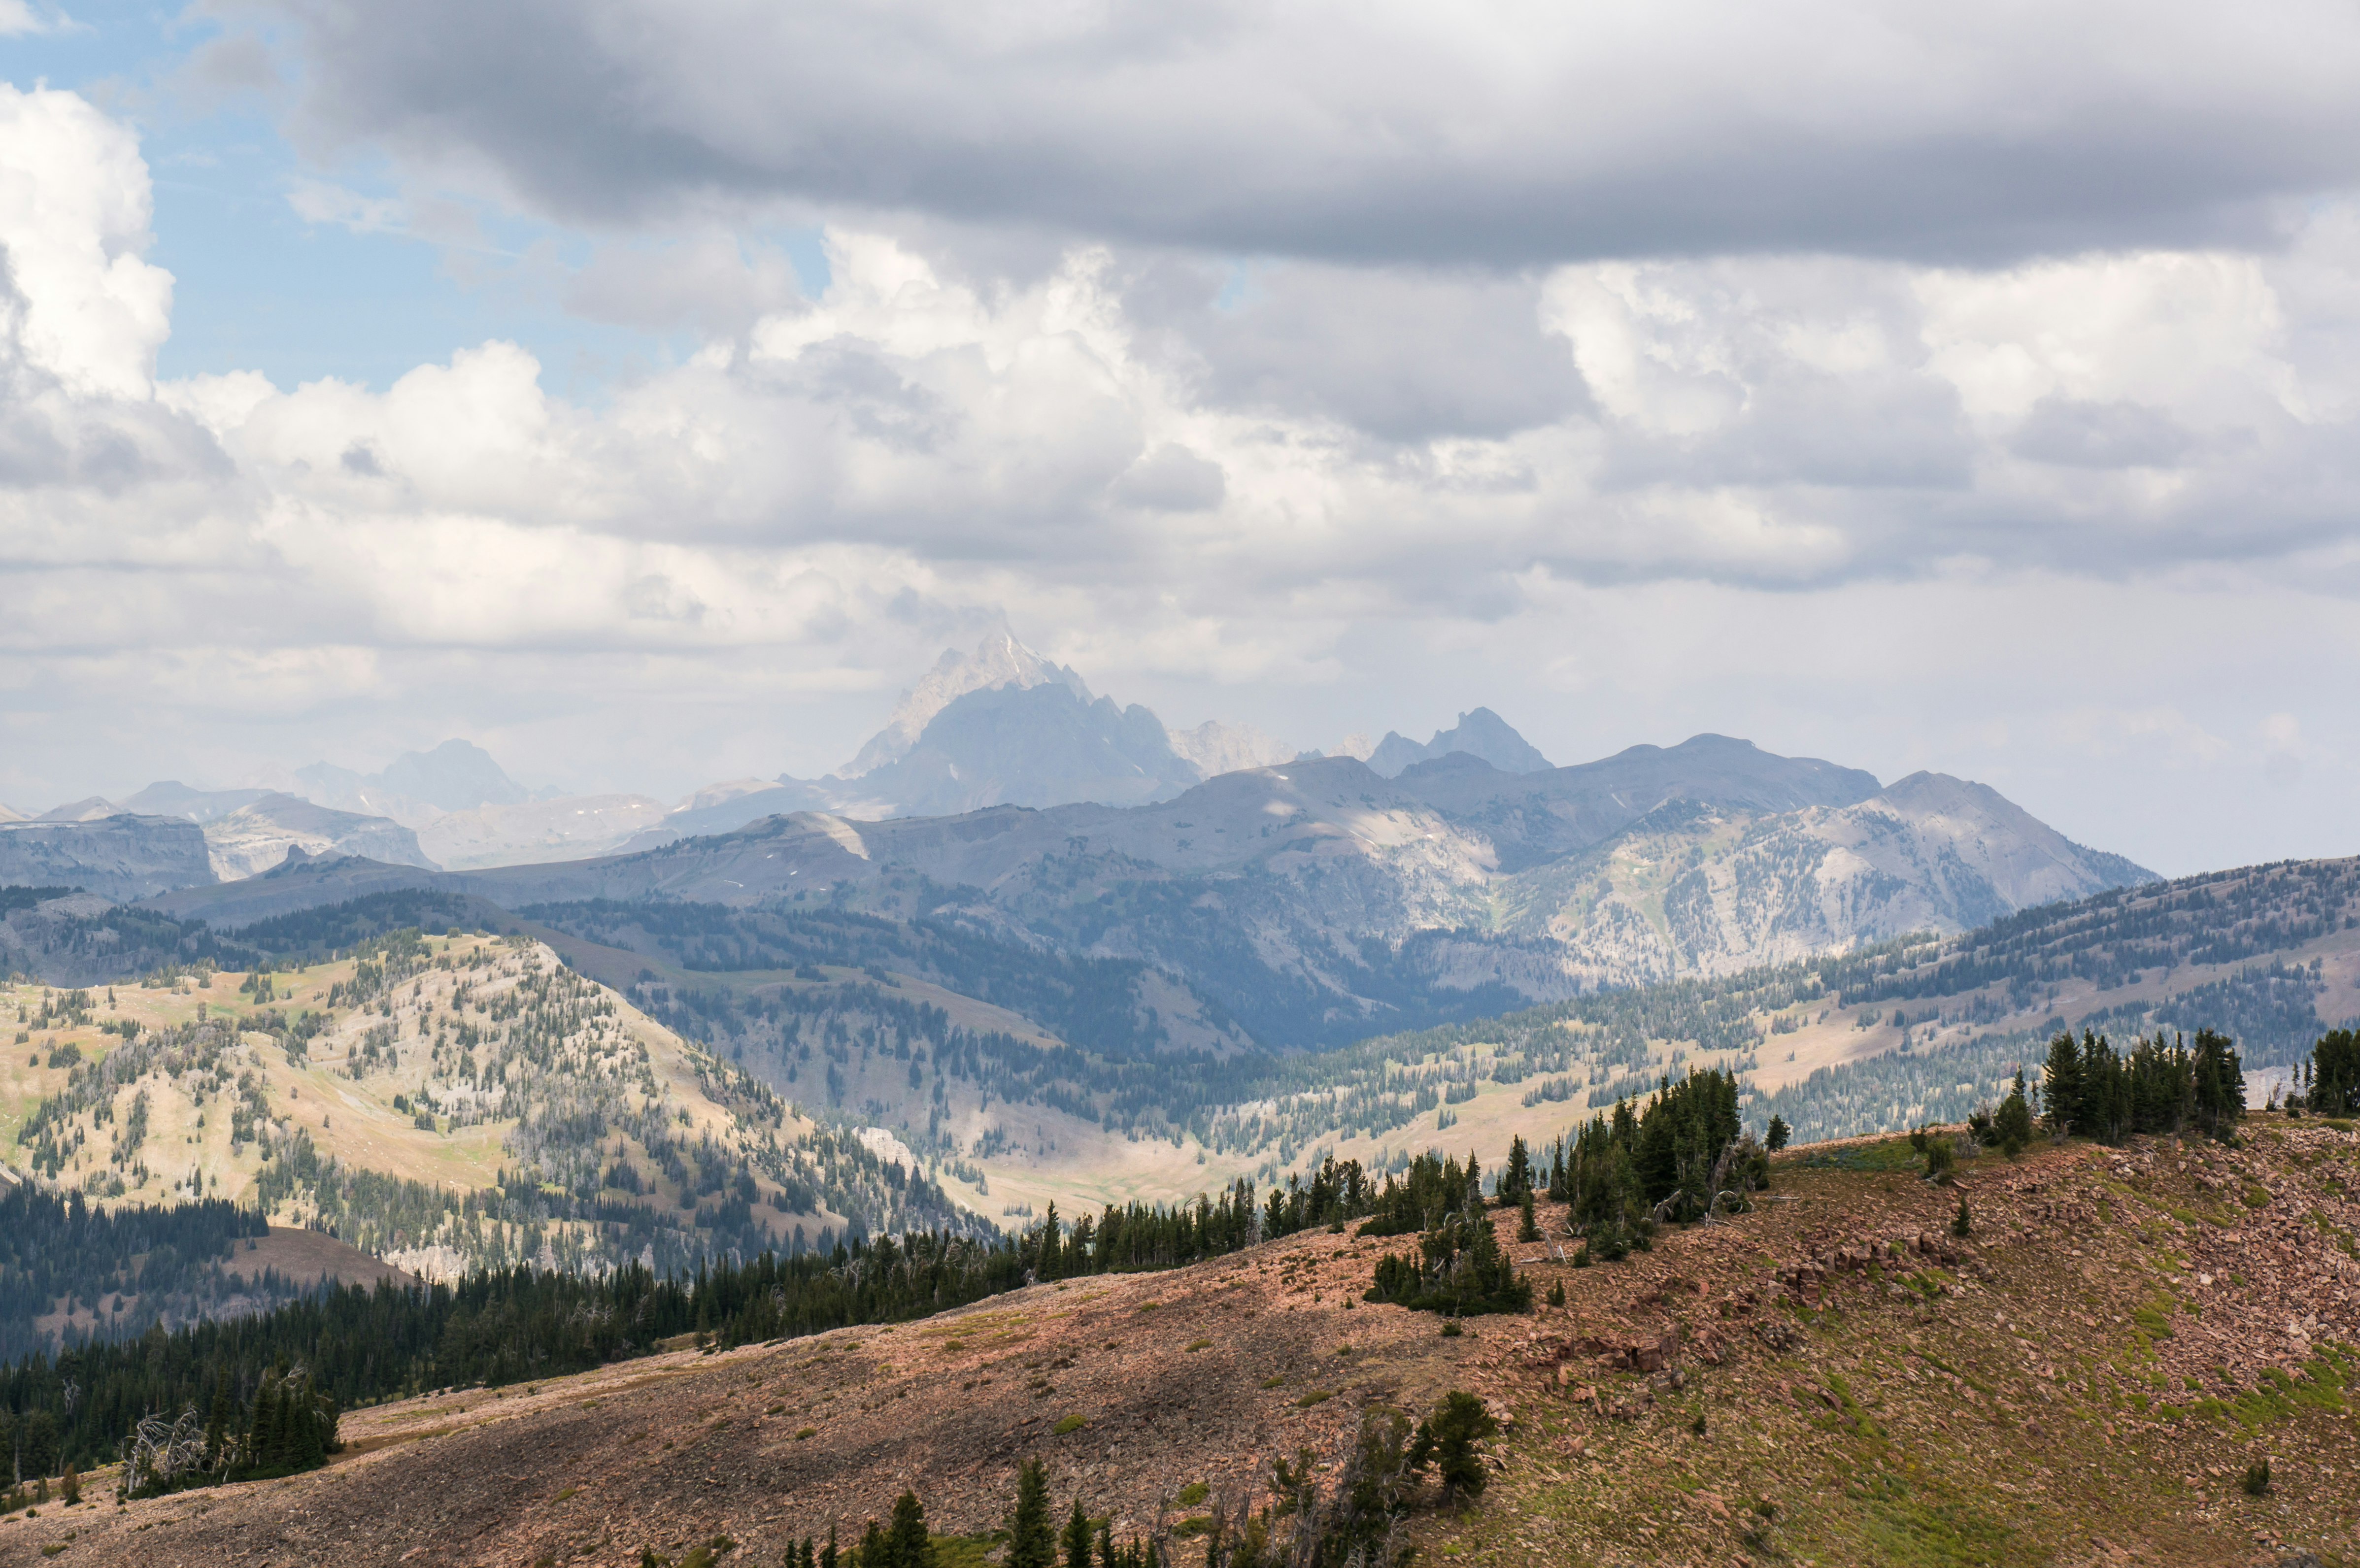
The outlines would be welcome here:
[[[160,783],[123,806],[76,802],[0,828],[0,882],[163,894],[158,908],[238,924],[387,887],[500,908],[743,908],[831,887],[894,903],[883,889],[916,877],[927,908],[1149,964],[1244,1035],[1305,1045],[1480,1000],[1964,931],[2152,879],[1985,785],[1886,788],[1723,736],[1560,769],[1475,707],[1428,743],[1366,750],[1293,755],[1220,724],[1175,736],[1001,632],[944,653],[826,778],[732,780],[673,809],[536,797],[448,740],[366,776],[297,769],[312,799]],[[1206,776],[1237,759],[1251,764]]]

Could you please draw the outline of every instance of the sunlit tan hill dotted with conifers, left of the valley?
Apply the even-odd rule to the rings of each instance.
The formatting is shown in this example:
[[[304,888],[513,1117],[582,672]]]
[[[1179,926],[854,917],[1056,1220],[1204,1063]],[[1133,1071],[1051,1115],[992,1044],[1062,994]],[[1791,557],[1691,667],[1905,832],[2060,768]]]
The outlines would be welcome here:
[[[378,924],[262,931],[321,955],[286,969],[7,988],[26,1052],[0,1066],[9,1162],[85,1203],[229,1198],[437,1276],[670,1271],[977,1224],[531,938],[404,927],[335,946]]]

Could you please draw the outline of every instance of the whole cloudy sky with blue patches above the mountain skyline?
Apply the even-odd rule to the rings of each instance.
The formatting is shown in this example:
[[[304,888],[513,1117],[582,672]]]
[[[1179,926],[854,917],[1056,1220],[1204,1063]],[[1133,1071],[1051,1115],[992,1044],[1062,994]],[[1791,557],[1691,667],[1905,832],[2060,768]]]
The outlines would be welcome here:
[[[2360,12],[0,0],[0,802],[817,776],[1010,627],[2360,851]]]

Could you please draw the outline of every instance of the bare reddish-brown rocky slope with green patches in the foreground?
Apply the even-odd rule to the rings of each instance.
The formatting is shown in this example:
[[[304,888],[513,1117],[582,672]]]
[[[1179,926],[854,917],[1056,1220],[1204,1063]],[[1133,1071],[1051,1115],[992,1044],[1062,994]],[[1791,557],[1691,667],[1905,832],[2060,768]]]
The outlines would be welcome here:
[[[2320,1120],[2254,1115],[2235,1151],[2044,1144],[1959,1188],[1902,1141],[1817,1146],[1756,1212],[1628,1264],[1510,1243],[1567,1304],[1463,1337],[1357,1302],[1383,1243],[1307,1233],[352,1412],[326,1471],[120,1509],[92,1485],[0,1521],[0,1563],[628,1566],[727,1537],[720,1561],[769,1566],[902,1488],[986,1533],[1031,1455],[1060,1514],[1161,1521],[1194,1563],[1187,1521],[1272,1460],[1333,1462],[1364,1412],[1447,1389],[1506,1431],[1480,1502],[1414,1516],[1423,1561],[2351,1561],[2355,1228],[2360,1132]]]

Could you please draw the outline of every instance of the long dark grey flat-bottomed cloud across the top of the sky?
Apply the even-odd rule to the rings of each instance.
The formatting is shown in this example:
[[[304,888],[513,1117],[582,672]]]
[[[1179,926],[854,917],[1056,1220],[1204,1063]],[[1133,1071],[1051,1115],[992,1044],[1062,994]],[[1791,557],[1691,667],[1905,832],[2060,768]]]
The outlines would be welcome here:
[[[1997,262],[2263,236],[2360,172],[2360,17],[2325,0],[283,17],[314,146],[583,224],[817,203],[1348,262]]]

